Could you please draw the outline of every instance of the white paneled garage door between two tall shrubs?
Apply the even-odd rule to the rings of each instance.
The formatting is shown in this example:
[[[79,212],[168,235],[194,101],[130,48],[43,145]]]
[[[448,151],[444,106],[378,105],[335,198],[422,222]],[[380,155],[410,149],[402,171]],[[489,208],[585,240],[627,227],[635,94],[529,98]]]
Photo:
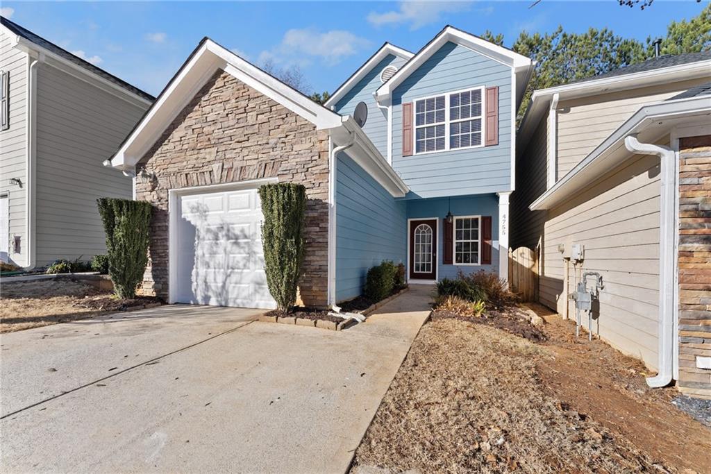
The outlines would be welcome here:
[[[275,308],[264,274],[256,189],[178,197],[177,303]]]

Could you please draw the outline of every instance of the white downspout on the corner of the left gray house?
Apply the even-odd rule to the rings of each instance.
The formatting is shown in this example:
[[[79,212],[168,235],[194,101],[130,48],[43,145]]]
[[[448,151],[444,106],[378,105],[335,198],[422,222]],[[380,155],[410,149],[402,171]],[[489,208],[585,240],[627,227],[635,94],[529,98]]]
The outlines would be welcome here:
[[[26,130],[26,173],[27,186],[25,188],[25,236],[27,246],[26,265],[23,270],[28,271],[35,268],[36,262],[36,244],[35,244],[35,212],[37,209],[36,187],[35,180],[37,176],[37,65],[44,63],[44,54],[40,53],[37,59],[31,60],[27,67],[27,97],[26,110],[27,119],[25,122]]]

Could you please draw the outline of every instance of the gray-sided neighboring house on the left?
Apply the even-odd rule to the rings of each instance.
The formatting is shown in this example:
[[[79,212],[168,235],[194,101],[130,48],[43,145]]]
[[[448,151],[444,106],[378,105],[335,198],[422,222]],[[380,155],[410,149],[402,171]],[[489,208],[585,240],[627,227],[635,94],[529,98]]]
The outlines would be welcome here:
[[[154,97],[0,22],[0,259],[25,269],[105,253],[96,200],[131,198],[102,166]]]

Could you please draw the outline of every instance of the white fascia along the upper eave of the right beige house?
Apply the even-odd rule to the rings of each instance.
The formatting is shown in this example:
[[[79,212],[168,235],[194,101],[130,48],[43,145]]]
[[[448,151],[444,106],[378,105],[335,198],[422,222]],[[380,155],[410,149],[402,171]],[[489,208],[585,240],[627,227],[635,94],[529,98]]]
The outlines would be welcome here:
[[[519,137],[528,141],[535,127],[540,122],[540,115],[545,111],[548,103],[556,94],[561,100],[576,99],[598,95],[603,92],[611,93],[621,90],[639,89],[668,82],[711,77],[711,60],[697,61],[695,63],[660,68],[651,71],[634,72],[614,77],[603,77],[597,80],[574,82],[572,84],[557,85],[547,89],[539,89],[531,95],[530,105],[526,110],[521,125],[518,128]]]

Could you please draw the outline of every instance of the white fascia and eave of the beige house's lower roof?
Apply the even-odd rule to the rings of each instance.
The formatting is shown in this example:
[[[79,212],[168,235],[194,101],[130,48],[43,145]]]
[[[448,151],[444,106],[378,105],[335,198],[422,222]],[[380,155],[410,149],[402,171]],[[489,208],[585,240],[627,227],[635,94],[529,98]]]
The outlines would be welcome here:
[[[670,100],[646,105],[616,129],[570,172],[528,207],[530,210],[555,208],[585,186],[593,183],[632,155],[626,151],[624,139],[630,134],[653,132],[645,141],[654,141],[680,121],[711,116],[711,95]]]

